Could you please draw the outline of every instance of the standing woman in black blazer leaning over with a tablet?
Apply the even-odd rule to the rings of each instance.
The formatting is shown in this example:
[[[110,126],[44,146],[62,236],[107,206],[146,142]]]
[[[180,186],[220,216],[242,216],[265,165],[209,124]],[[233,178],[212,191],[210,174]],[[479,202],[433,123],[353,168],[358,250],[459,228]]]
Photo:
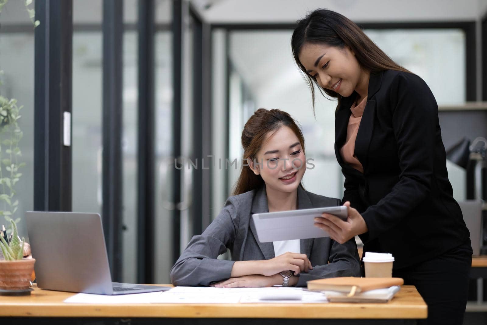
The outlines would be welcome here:
[[[318,9],[298,21],[292,49],[313,105],[315,83],[337,98],[335,152],[345,176],[342,202],[351,208],[346,222],[323,215],[317,227],[340,243],[358,235],[364,253],[392,253],[393,276],[416,286],[428,304],[428,324],[462,324],[472,250],[430,88],[333,11]],[[356,105],[363,115],[352,164],[341,150]]]

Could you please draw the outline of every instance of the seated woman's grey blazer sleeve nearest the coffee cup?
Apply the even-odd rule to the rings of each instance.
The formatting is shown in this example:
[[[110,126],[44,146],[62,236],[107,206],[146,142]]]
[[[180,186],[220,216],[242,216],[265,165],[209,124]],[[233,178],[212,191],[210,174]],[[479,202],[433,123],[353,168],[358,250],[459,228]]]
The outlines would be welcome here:
[[[338,199],[337,205],[341,205]],[[325,265],[314,265],[313,269],[309,272],[300,273],[296,287],[306,287],[306,282],[323,278],[339,276],[360,277],[360,259],[358,257],[355,238],[350,239],[344,244],[339,244],[334,240],[330,240],[330,243],[331,247],[317,248],[320,250],[329,250],[329,263]]]

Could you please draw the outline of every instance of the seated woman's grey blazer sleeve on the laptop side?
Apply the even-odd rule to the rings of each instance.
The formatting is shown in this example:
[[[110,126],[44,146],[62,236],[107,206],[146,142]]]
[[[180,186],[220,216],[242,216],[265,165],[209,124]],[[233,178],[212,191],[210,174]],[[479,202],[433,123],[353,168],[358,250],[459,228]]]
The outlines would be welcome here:
[[[208,228],[193,236],[183,254],[171,268],[174,286],[209,286],[230,278],[234,261],[219,260],[235,240],[239,226],[239,202],[230,197]]]

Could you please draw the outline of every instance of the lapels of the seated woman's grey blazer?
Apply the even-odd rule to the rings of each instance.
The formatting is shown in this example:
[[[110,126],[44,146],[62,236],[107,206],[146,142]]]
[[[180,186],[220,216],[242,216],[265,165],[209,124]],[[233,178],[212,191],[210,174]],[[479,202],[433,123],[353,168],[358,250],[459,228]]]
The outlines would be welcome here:
[[[313,208],[313,204],[309,198],[308,193],[302,188],[298,187],[298,209],[311,209]],[[256,191],[254,195],[254,199],[252,201],[252,210],[250,215],[253,213],[262,213],[262,212],[269,212],[269,206],[267,205],[267,194],[265,192],[265,185],[262,186],[259,190]],[[259,248],[262,250],[262,254],[264,255],[266,260],[276,257],[274,254],[274,244],[273,242],[261,243],[257,238],[257,231],[255,229],[254,221],[252,218],[249,218],[249,226],[252,234],[254,235],[255,241],[259,245]],[[310,239],[301,239],[300,240],[300,250],[301,253],[306,254],[309,258],[311,253],[311,248],[313,246],[313,238]]]

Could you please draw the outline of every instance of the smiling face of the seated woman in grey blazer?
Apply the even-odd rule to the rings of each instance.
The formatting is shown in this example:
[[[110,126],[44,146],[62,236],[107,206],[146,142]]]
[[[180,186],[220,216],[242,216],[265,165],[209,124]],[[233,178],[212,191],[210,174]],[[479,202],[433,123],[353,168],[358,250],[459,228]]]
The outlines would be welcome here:
[[[261,175],[265,186],[282,192],[295,191],[306,170],[300,140],[287,126],[266,135],[256,162],[258,165],[250,167],[256,175]]]

